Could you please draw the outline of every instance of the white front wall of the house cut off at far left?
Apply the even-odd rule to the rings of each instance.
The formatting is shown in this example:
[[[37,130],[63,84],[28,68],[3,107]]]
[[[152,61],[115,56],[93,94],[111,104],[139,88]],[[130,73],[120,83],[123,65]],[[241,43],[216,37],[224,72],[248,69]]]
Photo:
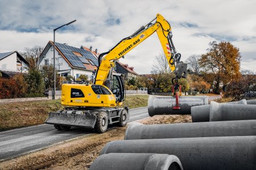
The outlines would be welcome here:
[[[0,60],[0,70],[17,71],[16,66],[17,54],[13,53],[10,56]]]

